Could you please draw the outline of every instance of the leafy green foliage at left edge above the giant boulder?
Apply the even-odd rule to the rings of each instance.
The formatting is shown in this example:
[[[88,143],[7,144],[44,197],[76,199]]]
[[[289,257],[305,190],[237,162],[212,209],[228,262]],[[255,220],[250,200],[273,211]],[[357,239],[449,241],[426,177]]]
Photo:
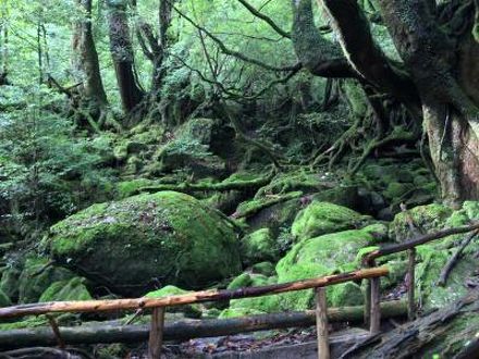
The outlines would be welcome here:
[[[0,198],[8,203],[0,221],[36,227],[105,198],[111,189],[111,171],[101,168],[108,139],[82,135],[52,112],[60,99],[46,87],[11,87],[2,95],[0,106],[25,103],[0,113]]]

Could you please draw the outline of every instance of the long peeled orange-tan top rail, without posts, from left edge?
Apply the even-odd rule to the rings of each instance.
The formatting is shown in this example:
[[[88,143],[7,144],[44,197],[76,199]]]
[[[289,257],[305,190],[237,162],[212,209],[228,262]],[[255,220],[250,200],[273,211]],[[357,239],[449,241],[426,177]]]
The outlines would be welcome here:
[[[38,315],[52,312],[101,312],[112,310],[172,307],[204,301],[260,297],[265,295],[280,294],[285,292],[326,287],[349,281],[380,277],[388,275],[388,268],[380,267],[297,282],[248,287],[235,290],[202,290],[184,295],[169,296],[164,298],[52,301],[42,304],[40,302],[32,305],[20,305],[0,308],[0,319],[17,318],[24,315]]]

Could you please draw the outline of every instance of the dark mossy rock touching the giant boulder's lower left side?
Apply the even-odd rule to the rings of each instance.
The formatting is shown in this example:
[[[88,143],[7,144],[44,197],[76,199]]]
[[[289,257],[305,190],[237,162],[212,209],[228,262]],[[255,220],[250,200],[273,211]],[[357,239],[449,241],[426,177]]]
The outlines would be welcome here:
[[[19,302],[36,302],[41,294],[54,282],[67,281],[74,274],[61,267],[47,265],[42,258],[28,258],[20,275]]]

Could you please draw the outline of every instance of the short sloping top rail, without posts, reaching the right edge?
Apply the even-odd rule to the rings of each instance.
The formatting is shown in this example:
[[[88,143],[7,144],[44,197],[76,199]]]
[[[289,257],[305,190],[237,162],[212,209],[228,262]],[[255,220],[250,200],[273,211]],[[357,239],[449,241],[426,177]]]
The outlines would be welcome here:
[[[400,243],[397,245],[383,246],[377,250],[373,250],[373,251],[370,251],[369,253],[366,253],[363,257],[363,263],[368,264],[368,263],[373,262],[373,260],[379,257],[384,257],[388,255],[397,253],[400,251],[413,249],[417,246],[427,244],[432,240],[441,239],[441,238],[444,238],[444,237],[447,237],[447,236],[451,236],[454,234],[462,234],[462,233],[471,232],[475,230],[479,230],[479,222],[475,222],[471,225],[464,225],[464,226],[459,226],[459,227],[455,227],[455,228],[447,228],[447,230],[439,231],[435,233],[426,234],[426,235],[419,236],[417,238]]]

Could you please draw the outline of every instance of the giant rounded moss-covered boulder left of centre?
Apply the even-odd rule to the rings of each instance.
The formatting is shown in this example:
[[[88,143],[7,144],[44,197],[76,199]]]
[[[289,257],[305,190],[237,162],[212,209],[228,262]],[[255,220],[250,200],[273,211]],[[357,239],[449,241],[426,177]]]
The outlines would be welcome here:
[[[158,281],[196,288],[241,271],[234,225],[175,191],[94,205],[52,226],[46,242],[58,262],[125,295]]]

